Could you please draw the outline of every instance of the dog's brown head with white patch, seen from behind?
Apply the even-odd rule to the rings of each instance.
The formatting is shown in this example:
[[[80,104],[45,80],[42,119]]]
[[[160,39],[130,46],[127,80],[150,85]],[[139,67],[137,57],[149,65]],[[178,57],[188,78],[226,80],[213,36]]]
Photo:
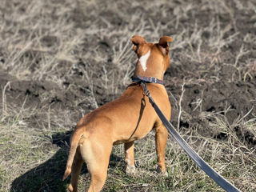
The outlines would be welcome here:
[[[163,36],[158,43],[151,43],[146,42],[139,35],[134,35],[130,40],[133,42],[133,49],[138,56],[135,75],[162,79],[170,65],[169,42],[172,42],[173,39]]]

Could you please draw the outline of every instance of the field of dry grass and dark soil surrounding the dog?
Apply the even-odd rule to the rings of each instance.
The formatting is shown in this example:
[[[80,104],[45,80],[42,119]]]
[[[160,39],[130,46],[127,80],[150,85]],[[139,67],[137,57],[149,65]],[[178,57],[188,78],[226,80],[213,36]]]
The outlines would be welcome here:
[[[70,132],[129,85],[134,34],[174,39],[171,122],[218,173],[256,191],[254,0],[2,0],[0,23],[0,191],[66,191]],[[154,151],[152,132],[135,143],[138,171],[127,175],[114,146],[103,191],[222,191],[173,138],[168,177]],[[84,166],[79,191],[89,183]]]

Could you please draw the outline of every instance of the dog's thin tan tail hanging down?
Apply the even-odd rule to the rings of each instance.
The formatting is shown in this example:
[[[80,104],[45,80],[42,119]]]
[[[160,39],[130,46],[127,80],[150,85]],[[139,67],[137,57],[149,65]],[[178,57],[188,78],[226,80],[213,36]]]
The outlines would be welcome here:
[[[74,131],[74,134],[72,135],[71,142],[70,142],[70,153],[69,157],[66,162],[66,170],[63,175],[62,181],[64,181],[70,174],[71,174],[71,167],[74,160],[74,155],[78,148],[78,142],[80,141],[80,138],[82,137],[82,133],[85,131],[84,127],[79,127],[78,130]]]

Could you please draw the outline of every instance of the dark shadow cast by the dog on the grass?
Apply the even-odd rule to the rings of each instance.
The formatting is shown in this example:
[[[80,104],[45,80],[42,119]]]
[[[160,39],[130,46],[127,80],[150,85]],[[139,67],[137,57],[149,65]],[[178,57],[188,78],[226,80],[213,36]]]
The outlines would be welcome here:
[[[64,134],[54,134],[53,144],[60,147],[60,150],[48,161],[27,171],[12,182],[11,192],[61,192],[66,191],[66,187],[70,183],[70,177],[62,182],[62,176],[66,168],[66,159],[68,154],[68,146],[71,132],[67,131]],[[122,158],[111,154],[110,167],[121,162]],[[84,164],[82,174],[87,174],[88,171]]]

